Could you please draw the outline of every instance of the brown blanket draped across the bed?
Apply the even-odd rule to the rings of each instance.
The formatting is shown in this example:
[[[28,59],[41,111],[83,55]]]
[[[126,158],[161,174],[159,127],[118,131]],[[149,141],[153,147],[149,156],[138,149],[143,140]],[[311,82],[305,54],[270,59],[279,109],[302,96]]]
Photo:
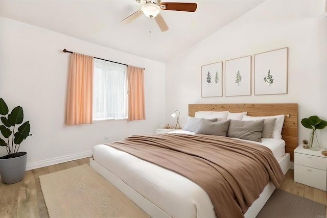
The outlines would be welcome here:
[[[218,217],[244,217],[269,180],[284,181],[270,149],[222,136],[135,135],[109,146],[174,171],[202,187]]]

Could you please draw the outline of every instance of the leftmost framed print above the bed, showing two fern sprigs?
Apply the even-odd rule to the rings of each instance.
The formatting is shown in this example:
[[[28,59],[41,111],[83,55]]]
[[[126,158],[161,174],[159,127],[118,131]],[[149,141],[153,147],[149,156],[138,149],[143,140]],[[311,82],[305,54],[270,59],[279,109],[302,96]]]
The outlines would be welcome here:
[[[201,97],[221,97],[223,62],[203,65],[201,67]]]

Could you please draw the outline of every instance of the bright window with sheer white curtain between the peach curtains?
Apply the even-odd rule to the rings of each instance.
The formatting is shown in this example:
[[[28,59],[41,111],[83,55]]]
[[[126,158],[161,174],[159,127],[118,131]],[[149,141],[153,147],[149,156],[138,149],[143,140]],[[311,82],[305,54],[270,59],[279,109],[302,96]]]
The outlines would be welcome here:
[[[93,120],[127,118],[127,66],[94,59]]]

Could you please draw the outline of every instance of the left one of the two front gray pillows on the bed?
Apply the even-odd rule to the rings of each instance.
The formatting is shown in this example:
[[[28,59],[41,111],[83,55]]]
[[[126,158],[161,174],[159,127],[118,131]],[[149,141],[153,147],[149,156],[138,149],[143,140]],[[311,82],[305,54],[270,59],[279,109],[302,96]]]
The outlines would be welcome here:
[[[226,136],[229,122],[230,119],[218,122],[210,122],[209,120],[202,119],[200,120],[199,129],[195,134]]]

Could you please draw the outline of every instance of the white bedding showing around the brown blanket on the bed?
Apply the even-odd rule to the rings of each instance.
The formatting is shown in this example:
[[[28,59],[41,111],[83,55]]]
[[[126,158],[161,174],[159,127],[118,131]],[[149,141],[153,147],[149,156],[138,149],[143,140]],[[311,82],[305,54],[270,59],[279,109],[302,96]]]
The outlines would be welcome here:
[[[192,134],[182,130],[174,133]],[[264,140],[263,143],[267,143],[266,146],[274,150],[274,140],[276,139],[268,139],[267,142]],[[179,174],[104,144],[94,147],[93,157],[96,162],[171,217],[216,217],[207,193],[196,183]]]

